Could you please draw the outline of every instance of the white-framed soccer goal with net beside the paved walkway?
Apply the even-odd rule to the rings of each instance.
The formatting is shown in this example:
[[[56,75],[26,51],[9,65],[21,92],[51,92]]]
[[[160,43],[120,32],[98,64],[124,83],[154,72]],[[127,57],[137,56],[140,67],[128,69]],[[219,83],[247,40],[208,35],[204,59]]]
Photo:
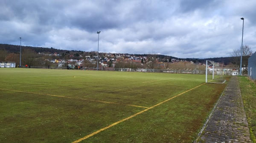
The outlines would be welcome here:
[[[205,82],[207,83],[224,83],[223,79],[224,70],[223,65],[218,62],[206,61]]]

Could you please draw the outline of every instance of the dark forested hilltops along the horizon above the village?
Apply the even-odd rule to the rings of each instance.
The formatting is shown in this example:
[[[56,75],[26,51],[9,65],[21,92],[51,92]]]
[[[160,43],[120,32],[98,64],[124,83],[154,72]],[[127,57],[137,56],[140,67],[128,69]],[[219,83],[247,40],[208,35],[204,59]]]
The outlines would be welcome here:
[[[29,48],[31,50],[35,50],[36,53],[66,53],[67,51],[74,51],[74,52],[82,52],[77,50],[60,50],[55,48],[43,48],[43,47],[30,47],[30,46],[21,46],[22,49]],[[20,52],[20,45],[9,45],[9,44],[0,44],[0,49],[6,50],[8,53],[19,53]],[[134,56],[147,56],[148,54],[131,54],[126,53],[128,55]],[[177,58],[174,56],[166,56],[166,55],[157,55],[157,58],[160,59],[167,59],[166,57],[171,59],[179,59],[179,60],[186,60],[186,61],[193,61],[193,62],[200,62],[205,63],[206,60],[224,63],[225,65],[230,64],[232,57],[219,57],[219,58],[206,58],[206,59],[196,59],[196,58]]]

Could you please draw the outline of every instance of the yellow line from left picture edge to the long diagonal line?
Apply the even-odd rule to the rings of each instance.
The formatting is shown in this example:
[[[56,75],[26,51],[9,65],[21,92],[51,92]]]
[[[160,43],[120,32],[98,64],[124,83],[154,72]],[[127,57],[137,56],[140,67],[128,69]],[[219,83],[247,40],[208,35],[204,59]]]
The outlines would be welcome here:
[[[0,88],[0,90],[6,90],[6,89],[1,89],[1,88]],[[8,90],[8,91],[15,91],[15,92],[20,92],[20,93],[32,93],[32,92],[18,91],[18,90]],[[137,105],[120,104],[120,103],[113,103],[113,102],[107,102],[107,101],[98,101],[98,100],[92,100],[92,99],[84,99],[84,98],[76,98],[76,97],[67,97],[67,96],[61,96],[61,95],[51,95],[51,94],[43,94],[43,93],[32,93],[32,94],[49,95],[49,96],[55,96],[55,97],[73,98],[73,99],[88,100],[88,101],[96,101],[96,102],[109,103],[109,104],[119,104],[119,105],[133,106],[133,107],[148,108],[148,107],[137,106]]]

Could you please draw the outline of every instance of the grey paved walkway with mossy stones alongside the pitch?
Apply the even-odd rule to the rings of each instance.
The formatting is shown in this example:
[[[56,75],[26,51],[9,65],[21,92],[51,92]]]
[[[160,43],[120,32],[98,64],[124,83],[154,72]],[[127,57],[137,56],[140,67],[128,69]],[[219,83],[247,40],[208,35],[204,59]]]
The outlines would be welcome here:
[[[196,143],[251,142],[238,78],[233,76]]]

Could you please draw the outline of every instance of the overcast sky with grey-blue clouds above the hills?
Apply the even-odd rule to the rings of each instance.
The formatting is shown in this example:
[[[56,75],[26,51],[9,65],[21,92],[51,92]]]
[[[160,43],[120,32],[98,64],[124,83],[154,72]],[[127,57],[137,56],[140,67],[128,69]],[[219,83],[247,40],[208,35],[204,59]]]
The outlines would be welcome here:
[[[256,0],[0,0],[0,43],[177,58],[256,51]]]

